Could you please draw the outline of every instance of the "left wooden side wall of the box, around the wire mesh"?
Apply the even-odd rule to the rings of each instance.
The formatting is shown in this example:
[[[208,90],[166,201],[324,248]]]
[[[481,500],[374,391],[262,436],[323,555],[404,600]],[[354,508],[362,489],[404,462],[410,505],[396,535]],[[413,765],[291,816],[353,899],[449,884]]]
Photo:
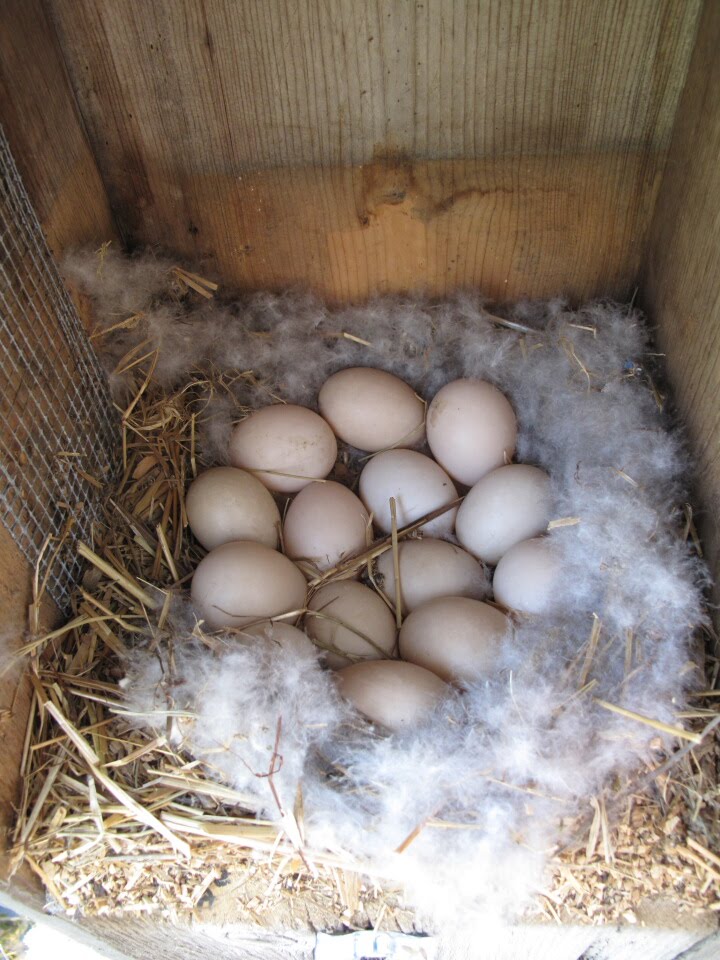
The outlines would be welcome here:
[[[0,123],[57,256],[74,243],[115,235],[105,188],[41,0],[2,3]],[[0,662],[24,637],[31,575],[0,525]],[[44,622],[56,617],[57,610],[47,603]],[[0,877],[18,798],[17,771],[29,704],[28,685],[19,681],[17,672],[0,677]]]

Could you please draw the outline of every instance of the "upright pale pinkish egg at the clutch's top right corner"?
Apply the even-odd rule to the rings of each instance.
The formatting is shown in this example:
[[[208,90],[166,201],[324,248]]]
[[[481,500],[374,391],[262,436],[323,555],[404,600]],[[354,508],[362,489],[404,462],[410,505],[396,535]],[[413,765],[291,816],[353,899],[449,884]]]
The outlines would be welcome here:
[[[471,487],[512,460],[517,419],[509,401],[484,380],[453,380],[428,407],[428,444],[450,476]]]

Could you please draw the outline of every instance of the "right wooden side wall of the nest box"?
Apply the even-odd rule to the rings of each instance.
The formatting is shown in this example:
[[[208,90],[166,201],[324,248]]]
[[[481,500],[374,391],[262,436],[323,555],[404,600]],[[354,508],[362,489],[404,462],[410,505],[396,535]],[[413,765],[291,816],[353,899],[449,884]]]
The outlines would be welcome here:
[[[644,300],[697,460],[706,555],[720,581],[720,4],[709,0],[652,225]],[[716,587],[720,602],[720,587]]]

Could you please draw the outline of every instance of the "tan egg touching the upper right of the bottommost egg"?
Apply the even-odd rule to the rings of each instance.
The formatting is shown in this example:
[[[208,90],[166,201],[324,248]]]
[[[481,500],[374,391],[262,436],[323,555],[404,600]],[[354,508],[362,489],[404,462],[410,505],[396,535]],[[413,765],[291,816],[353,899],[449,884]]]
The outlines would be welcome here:
[[[403,623],[400,656],[443,680],[476,680],[495,672],[510,631],[509,619],[488,603],[439,597]]]

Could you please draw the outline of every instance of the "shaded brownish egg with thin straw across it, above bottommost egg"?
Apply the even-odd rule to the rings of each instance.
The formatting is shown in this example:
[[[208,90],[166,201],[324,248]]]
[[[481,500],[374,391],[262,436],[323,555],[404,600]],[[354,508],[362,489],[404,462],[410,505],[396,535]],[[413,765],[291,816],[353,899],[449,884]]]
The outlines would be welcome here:
[[[356,659],[392,656],[395,618],[370,587],[354,580],[328,583],[313,595],[308,608],[305,630],[328,651],[328,666],[336,669]]]

